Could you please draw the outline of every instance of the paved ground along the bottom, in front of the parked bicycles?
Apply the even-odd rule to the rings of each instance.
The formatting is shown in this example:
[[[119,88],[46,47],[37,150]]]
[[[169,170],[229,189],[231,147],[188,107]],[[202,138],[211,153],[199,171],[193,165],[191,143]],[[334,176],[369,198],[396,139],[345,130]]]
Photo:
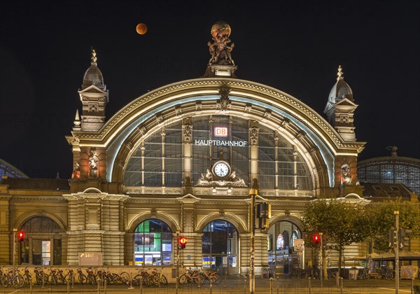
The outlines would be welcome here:
[[[413,281],[414,285],[420,286],[418,279]],[[409,294],[411,292],[411,280],[400,280],[399,292]],[[38,286],[14,289],[0,288],[1,294],[6,293],[136,293],[136,294],[175,294],[175,285],[147,287],[134,286],[130,289],[127,285],[108,285],[106,288],[97,286],[75,285],[73,287],[63,286]],[[204,284],[198,287],[195,283],[179,286],[179,294],[247,294],[249,291],[248,280],[243,276],[228,276],[227,281],[220,284]],[[318,293],[395,293],[395,280],[342,280],[342,285],[336,286],[335,281],[321,281],[314,279],[255,279],[255,294],[318,294]],[[414,293],[414,292],[413,292]]]

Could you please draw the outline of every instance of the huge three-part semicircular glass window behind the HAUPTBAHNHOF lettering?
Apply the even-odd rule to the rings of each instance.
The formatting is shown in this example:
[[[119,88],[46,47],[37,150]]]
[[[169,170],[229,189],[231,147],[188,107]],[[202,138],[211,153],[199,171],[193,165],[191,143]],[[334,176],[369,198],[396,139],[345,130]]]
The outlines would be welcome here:
[[[219,156],[229,162],[235,176],[249,183],[250,148],[247,119],[236,116],[194,116],[192,123],[191,174],[193,186]],[[225,135],[216,134],[216,128]],[[307,162],[278,132],[258,125],[258,181],[261,189],[312,190]],[[125,186],[179,187],[183,181],[183,125],[169,123],[134,150],[125,167]],[[224,144],[215,144],[223,141]],[[229,145],[225,142],[229,142]],[[209,143],[210,142],[210,143]],[[188,151],[189,152],[189,151]]]

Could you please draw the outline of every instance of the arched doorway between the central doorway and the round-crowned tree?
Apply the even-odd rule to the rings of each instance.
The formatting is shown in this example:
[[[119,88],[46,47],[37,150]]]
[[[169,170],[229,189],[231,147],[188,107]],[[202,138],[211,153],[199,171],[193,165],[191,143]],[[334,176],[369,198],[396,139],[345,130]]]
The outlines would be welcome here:
[[[291,274],[302,263],[302,253],[293,251],[302,232],[290,221],[278,221],[268,230],[268,264],[276,274]]]

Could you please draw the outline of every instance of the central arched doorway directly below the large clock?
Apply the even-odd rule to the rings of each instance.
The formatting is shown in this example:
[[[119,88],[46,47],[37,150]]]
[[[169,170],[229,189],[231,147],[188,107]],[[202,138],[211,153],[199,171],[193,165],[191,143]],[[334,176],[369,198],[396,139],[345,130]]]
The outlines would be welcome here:
[[[202,237],[203,267],[220,274],[237,274],[238,231],[228,221],[212,221],[204,227]]]

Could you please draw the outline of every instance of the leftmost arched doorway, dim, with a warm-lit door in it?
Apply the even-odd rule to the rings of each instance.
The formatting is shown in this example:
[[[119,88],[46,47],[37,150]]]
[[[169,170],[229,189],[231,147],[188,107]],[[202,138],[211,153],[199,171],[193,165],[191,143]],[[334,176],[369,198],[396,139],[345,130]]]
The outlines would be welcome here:
[[[25,232],[25,239],[20,243],[20,264],[62,264],[62,229],[55,221],[36,216],[22,225],[21,230]]]

